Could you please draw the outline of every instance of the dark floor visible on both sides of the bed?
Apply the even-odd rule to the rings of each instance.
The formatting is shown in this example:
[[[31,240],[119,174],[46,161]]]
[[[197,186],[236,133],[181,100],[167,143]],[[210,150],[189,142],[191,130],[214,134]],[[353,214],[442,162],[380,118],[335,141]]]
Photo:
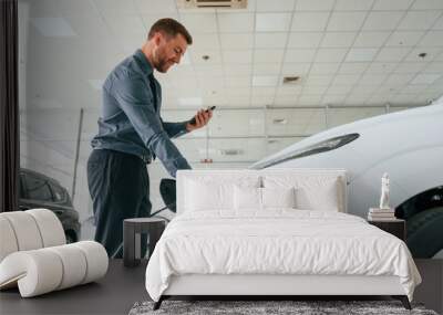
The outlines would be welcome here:
[[[415,262],[423,284],[416,288],[414,301],[442,313],[443,261]],[[127,314],[135,302],[148,300],[144,285],[145,269],[146,262],[137,267],[127,269],[121,260],[112,260],[106,276],[96,283],[32,298],[21,298],[18,290],[3,291],[0,293],[0,314]],[[374,300],[379,298],[374,296]],[[300,300],[303,298],[300,296]],[[363,300],[371,297],[367,296]]]

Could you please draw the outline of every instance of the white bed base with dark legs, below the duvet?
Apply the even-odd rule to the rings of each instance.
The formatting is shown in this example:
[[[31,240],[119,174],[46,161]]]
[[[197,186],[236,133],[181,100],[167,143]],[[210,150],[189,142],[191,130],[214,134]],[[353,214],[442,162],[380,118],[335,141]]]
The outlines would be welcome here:
[[[367,275],[215,275],[173,276],[168,288],[154,304],[172,296],[257,296],[272,300],[290,296],[380,296],[400,300],[406,309],[411,304],[398,276]],[[262,297],[262,298],[261,298]],[[290,298],[288,298],[290,300]]]

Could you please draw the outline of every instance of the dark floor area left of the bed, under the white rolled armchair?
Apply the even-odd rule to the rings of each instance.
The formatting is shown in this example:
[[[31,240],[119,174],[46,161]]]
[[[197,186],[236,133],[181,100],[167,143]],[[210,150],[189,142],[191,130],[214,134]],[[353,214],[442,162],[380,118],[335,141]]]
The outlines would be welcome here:
[[[18,290],[0,292],[0,314],[127,314],[137,301],[148,300],[146,262],[128,269],[123,260],[111,260],[106,276],[45,295],[21,298]]]

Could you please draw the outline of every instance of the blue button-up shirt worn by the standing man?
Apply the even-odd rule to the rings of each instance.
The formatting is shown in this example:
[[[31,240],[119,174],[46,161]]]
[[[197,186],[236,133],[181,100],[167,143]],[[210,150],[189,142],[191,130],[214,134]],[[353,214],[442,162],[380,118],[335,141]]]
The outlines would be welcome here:
[[[92,147],[136,155],[145,161],[157,156],[173,177],[177,169],[190,169],[171,140],[186,133],[188,122],[164,123],[161,104],[159,83],[145,54],[137,50],[103,84],[102,117]]]

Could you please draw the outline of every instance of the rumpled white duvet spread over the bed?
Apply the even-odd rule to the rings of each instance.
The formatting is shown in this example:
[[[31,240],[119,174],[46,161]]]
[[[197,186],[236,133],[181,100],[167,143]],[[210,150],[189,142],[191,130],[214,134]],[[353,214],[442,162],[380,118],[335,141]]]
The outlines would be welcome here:
[[[183,274],[396,275],[410,300],[421,282],[398,238],[351,214],[293,209],[176,217],[148,262],[150,296]]]

